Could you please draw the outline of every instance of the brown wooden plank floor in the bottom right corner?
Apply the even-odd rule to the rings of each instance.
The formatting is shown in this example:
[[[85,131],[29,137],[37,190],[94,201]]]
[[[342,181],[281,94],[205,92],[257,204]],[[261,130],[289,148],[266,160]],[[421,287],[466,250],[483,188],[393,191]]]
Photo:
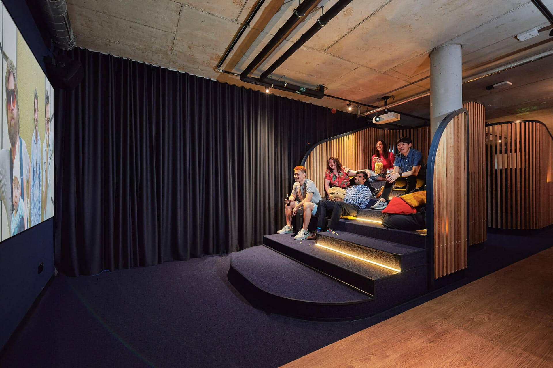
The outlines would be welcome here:
[[[286,364],[553,367],[553,248]]]

